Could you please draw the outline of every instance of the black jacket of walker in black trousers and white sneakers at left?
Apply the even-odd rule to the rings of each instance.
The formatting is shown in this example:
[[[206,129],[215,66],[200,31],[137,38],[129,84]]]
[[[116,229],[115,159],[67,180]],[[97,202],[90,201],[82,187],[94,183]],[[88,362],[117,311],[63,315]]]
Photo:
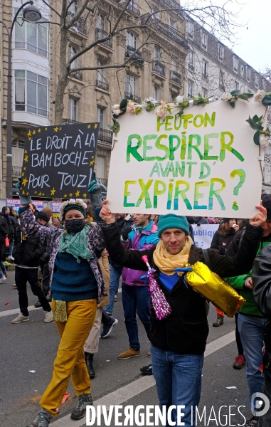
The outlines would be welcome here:
[[[45,248],[38,246],[31,238],[21,233],[21,227],[18,225],[14,236],[13,256],[17,265],[26,265],[27,267],[38,267],[40,257],[45,252]]]

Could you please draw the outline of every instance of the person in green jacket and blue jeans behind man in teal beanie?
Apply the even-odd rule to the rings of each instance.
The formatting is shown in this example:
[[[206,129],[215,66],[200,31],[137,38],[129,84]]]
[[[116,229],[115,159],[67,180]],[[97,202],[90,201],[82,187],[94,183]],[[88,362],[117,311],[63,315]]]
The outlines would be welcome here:
[[[262,194],[262,206],[267,209],[267,219],[262,224],[263,234],[257,248],[257,253],[262,251],[262,248],[269,245],[271,242],[271,195]],[[245,230],[248,226],[245,227]],[[243,238],[245,231],[240,231],[236,234],[232,244],[230,245],[230,254],[234,255],[238,250],[238,246],[243,245]],[[262,312],[255,305],[253,298],[253,287],[251,270],[238,277],[230,277],[225,280],[233,286],[240,295],[242,295],[246,302],[238,312],[238,331],[240,333],[241,342],[245,352],[246,361],[246,374],[248,381],[248,389],[250,391],[250,403],[255,411],[258,410],[256,400],[251,402],[251,397],[255,393],[262,391],[263,378],[259,370],[262,364],[262,342],[265,337],[265,324],[266,319],[262,317]],[[257,419],[255,416],[247,421],[245,426],[257,426]]]

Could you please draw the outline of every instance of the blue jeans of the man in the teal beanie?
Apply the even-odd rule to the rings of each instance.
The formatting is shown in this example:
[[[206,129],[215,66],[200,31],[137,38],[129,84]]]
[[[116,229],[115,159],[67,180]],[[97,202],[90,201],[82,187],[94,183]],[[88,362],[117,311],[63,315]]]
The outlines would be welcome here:
[[[160,407],[184,405],[181,423],[185,427],[195,426],[195,406],[201,398],[201,371],[204,353],[179,354],[151,346],[152,373],[156,381],[156,390]],[[193,406],[193,409],[192,409]],[[193,418],[191,418],[191,411]],[[177,424],[177,411],[171,412],[171,420]],[[193,420],[193,421],[192,421]],[[166,427],[169,423],[166,423]]]

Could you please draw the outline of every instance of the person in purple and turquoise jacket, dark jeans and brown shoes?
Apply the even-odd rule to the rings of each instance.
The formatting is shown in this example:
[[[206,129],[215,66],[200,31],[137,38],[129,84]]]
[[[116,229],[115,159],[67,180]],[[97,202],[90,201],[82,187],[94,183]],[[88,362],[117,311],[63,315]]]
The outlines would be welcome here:
[[[123,246],[131,251],[134,249],[139,251],[151,249],[158,242],[157,226],[151,221],[150,215],[134,214],[132,231],[129,234],[122,231]],[[150,293],[145,279],[141,279],[145,274],[144,271],[132,270],[131,268],[124,267],[122,269],[122,305],[129,338],[129,349],[119,354],[117,357],[119,360],[140,356],[137,315],[142,321],[149,339]],[[151,357],[150,350],[147,352],[147,356]]]

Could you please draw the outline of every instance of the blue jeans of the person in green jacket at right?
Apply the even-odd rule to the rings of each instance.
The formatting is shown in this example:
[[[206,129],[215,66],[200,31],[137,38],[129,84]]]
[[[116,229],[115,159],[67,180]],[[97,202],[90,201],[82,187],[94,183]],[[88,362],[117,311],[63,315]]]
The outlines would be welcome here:
[[[245,360],[247,362],[247,381],[250,391],[250,402],[253,393],[262,392],[263,378],[259,367],[262,364],[265,323],[266,320],[263,317],[245,316],[240,312],[238,314],[238,331],[240,333]],[[255,401],[253,401],[252,404],[255,411],[257,411]]]

